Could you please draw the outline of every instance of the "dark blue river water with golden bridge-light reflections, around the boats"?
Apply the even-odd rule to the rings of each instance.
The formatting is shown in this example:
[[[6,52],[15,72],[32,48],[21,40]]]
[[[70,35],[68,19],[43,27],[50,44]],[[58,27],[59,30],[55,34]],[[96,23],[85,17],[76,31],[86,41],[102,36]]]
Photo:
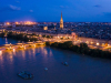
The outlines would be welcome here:
[[[69,66],[61,64],[65,61]],[[33,73],[33,80],[17,76],[21,71]],[[0,83],[111,83],[111,61],[48,46],[7,51],[0,53]]]

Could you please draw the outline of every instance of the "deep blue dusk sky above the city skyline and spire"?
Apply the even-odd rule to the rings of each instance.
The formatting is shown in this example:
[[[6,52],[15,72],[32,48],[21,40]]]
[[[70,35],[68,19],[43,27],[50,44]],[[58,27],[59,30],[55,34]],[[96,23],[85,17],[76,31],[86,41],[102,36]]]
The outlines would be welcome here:
[[[0,21],[111,22],[111,0],[0,0]]]

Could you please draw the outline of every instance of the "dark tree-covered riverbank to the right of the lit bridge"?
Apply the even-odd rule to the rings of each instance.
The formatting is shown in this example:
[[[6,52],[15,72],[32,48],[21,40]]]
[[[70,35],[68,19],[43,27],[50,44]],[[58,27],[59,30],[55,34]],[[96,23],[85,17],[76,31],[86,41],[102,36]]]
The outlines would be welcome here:
[[[46,45],[63,49],[63,50],[70,50],[78,54],[85,54],[93,58],[102,58],[102,59],[111,59],[111,52],[109,51],[102,51],[99,49],[90,49],[87,43],[80,43],[80,45],[73,45],[71,41],[64,42],[64,43],[50,43],[46,42]]]

